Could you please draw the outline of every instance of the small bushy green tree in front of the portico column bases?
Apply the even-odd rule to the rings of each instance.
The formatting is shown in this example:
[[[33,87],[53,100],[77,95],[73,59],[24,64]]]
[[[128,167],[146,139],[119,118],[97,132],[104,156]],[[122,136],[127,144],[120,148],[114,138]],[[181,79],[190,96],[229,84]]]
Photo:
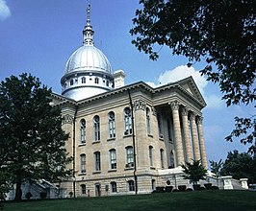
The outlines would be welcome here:
[[[186,174],[183,177],[189,179],[193,185],[197,184],[200,179],[205,179],[207,170],[204,169],[200,160],[192,160],[192,163],[186,162],[181,167]]]

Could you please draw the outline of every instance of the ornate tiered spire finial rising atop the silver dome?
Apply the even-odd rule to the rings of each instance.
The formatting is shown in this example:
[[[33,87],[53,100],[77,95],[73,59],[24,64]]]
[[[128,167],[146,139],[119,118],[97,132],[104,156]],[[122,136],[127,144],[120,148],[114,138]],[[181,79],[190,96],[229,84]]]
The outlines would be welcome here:
[[[90,0],[88,1],[87,7],[87,25],[83,30],[83,43],[84,45],[93,45],[93,35],[94,31],[90,25]]]

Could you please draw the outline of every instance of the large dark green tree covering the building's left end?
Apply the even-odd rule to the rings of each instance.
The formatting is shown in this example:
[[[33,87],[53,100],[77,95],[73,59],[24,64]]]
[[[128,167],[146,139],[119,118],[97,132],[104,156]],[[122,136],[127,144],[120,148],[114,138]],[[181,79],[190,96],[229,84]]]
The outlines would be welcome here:
[[[58,181],[70,175],[71,162],[64,149],[68,134],[62,129],[59,107],[50,106],[51,89],[28,74],[11,76],[0,83],[0,170],[16,185],[44,178]]]

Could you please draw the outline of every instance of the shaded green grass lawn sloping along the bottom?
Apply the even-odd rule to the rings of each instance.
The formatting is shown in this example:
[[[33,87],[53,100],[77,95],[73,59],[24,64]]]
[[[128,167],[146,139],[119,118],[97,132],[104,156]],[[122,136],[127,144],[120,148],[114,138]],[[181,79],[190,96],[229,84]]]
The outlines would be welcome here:
[[[136,211],[136,210],[256,210],[256,192],[198,191],[104,198],[47,199],[5,202],[4,211]]]

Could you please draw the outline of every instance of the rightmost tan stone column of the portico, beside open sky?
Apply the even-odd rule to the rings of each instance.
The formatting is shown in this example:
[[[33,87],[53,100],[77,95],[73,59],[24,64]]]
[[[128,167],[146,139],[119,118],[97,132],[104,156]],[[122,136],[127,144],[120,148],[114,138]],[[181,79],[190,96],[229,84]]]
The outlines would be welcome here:
[[[199,137],[199,146],[200,146],[200,153],[201,153],[201,162],[205,169],[208,169],[206,151],[205,151],[205,144],[204,144],[204,136],[203,136],[203,117],[198,116],[196,119],[197,123],[197,130],[198,130],[198,137]]]

